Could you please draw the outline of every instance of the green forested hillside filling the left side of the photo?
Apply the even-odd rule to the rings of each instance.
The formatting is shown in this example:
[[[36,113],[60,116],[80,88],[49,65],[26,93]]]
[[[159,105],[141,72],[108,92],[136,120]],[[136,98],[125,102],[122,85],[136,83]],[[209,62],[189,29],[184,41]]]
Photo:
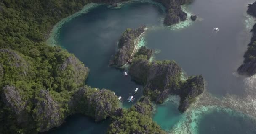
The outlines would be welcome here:
[[[83,86],[89,69],[73,54],[45,43],[55,23],[80,10],[86,0],[0,0],[0,133],[29,134],[59,126],[70,110],[76,88]],[[85,94],[92,88],[85,88]],[[106,91],[104,94],[113,94]],[[97,105],[117,107],[98,98]],[[84,98],[81,98],[84,99]],[[89,99],[89,97],[87,97]],[[88,102],[88,105],[95,105]],[[104,106],[92,106],[101,111]],[[74,108],[73,108],[74,109]],[[90,113],[81,111],[80,113]]]

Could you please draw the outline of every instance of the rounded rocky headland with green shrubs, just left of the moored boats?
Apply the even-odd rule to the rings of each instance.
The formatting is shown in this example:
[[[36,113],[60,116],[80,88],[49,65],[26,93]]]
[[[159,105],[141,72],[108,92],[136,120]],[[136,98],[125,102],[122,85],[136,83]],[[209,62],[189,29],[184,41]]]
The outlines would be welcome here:
[[[117,108],[118,99],[114,92],[90,87],[80,88],[69,102],[73,113],[91,116],[95,121],[106,119]]]

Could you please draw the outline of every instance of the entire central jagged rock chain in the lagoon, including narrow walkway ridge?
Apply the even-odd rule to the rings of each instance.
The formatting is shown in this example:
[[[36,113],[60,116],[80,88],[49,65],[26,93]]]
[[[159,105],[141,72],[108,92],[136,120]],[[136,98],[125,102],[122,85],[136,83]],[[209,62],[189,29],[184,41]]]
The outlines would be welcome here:
[[[145,26],[135,30],[127,29],[119,40],[119,49],[111,63],[121,67],[129,59],[136,42],[136,37],[143,33]],[[174,61],[149,62],[153,50],[141,47],[129,63],[128,74],[132,79],[144,85],[144,95],[151,101],[163,103],[168,95],[181,97],[179,111],[184,112],[203,93],[204,80],[202,75],[191,76],[186,81],[181,79],[181,67]]]

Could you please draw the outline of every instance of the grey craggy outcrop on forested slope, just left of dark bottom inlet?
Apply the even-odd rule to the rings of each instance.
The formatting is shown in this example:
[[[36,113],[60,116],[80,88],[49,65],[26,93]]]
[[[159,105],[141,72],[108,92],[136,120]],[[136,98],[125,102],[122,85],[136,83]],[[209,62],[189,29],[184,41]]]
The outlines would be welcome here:
[[[62,124],[64,116],[61,116],[61,107],[47,90],[40,90],[34,103],[33,118],[37,122],[37,129],[43,132]]]

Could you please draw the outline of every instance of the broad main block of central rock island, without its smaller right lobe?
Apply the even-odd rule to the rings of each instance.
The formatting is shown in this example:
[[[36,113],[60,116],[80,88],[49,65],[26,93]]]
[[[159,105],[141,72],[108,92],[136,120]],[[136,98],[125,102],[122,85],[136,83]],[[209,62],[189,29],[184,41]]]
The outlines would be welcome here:
[[[129,74],[133,80],[144,84],[144,93],[153,100],[163,92],[179,91],[181,68],[174,61],[154,61],[149,63],[139,59],[132,63]],[[157,96],[155,96],[157,95]],[[161,96],[165,96],[161,94]],[[162,99],[157,99],[162,100]]]

